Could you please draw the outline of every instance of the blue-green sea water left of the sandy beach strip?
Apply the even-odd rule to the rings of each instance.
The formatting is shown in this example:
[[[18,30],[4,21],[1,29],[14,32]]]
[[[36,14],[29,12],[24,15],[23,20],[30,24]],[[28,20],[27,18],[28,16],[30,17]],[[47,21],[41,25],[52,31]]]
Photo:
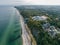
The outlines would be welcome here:
[[[0,6],[0,45],[22,45],[19,20],[15,8]]]

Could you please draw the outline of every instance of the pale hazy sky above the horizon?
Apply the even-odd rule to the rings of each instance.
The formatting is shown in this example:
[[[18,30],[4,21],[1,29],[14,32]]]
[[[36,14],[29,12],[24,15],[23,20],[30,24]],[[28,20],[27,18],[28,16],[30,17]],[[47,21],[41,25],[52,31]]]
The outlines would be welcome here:
[[[60,5],[60,0],[0,0],[0,5]]]

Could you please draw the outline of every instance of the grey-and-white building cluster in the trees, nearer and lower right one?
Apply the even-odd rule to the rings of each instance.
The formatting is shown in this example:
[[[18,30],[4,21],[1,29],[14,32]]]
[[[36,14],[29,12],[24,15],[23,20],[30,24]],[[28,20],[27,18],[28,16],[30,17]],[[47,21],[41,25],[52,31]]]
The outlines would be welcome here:
[[[44,31],[47,31],[48,34],[52,37],[54,37],[57,33],[60,33],[60,31],[58,31],[55,26],[50,26],[49,23],[43,24],[43,29]]]

